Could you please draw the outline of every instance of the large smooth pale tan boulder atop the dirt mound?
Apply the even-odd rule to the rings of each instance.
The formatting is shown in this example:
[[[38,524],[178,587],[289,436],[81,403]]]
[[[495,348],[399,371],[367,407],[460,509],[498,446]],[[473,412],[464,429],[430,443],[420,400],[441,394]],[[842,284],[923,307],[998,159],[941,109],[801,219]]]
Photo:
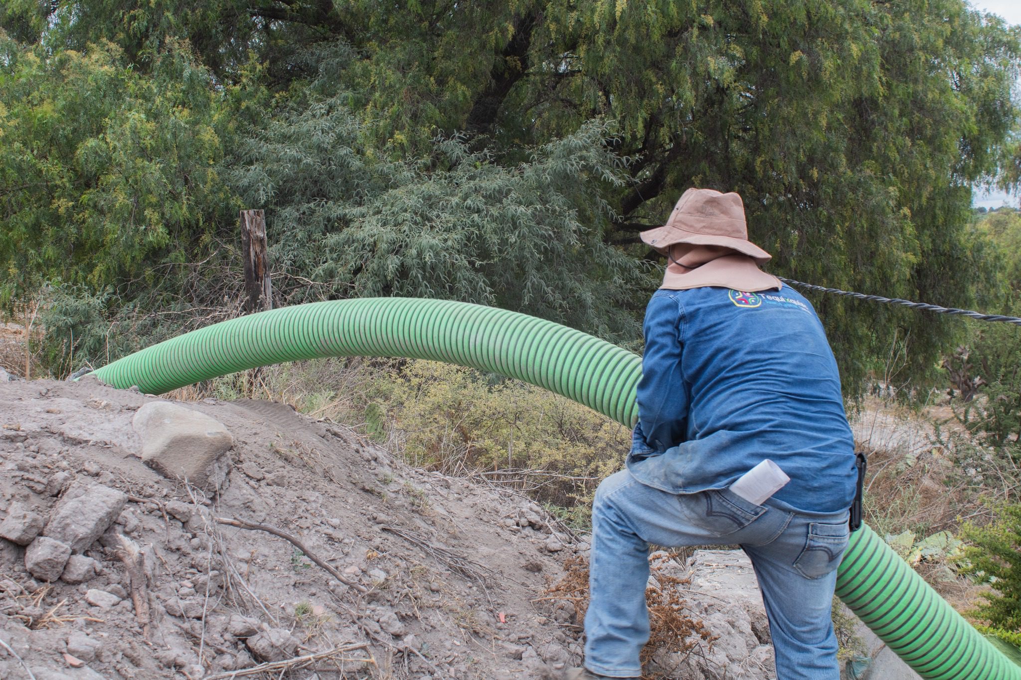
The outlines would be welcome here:
[[[227,477],[225,454],[234,437],[222,422],[169,402],[153,402],[138,410],[132,427],[142,439],[142,460],[167,477],[200,488],[215,488]]]

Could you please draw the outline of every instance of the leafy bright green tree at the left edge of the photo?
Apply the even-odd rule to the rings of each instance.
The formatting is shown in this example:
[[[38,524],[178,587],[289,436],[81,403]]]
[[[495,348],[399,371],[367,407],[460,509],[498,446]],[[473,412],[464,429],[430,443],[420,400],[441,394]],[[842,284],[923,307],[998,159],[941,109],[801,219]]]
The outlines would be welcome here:
[[[93,291],[186,261],[232,215],[222,110],[180,46],[151,76],[118,48],[6,44],[0,69],[0,299],[43,281]],[[231,217],[233,220],[233,217]]]

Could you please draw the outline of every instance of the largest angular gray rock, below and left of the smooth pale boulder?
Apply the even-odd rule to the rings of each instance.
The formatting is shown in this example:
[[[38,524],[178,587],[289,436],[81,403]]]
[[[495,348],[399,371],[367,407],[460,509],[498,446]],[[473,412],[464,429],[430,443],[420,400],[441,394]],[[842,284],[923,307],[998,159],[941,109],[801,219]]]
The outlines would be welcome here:
[[[124,510],[128,495],[101,484],[71,484],[53,510],[43,535],[81,553],[106,531]],[[59,576],[59,574],[57,574]]]

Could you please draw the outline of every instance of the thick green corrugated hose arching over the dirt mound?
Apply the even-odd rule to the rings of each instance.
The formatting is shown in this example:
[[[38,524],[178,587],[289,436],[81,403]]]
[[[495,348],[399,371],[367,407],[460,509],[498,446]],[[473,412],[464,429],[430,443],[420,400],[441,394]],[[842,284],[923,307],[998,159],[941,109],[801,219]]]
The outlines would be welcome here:
[[[224,321],[91,375],[147,394],[318,357],[408,357],[525,380],[631,426],[641,358],[573,328],[466,303],[364,298]],[[852,534],[836,592],[923,678],[1021,680],[1011,663],[869,527]]]

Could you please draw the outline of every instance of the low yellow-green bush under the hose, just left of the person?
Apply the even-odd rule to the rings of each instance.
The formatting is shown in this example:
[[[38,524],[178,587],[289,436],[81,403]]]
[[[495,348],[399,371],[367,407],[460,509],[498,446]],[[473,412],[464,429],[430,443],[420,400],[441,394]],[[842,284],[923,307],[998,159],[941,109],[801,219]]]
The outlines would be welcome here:
[[[461,366],[408,362],[387,391],[406,460],[510,481],[557,506],[589,501],[631,443],[630,430],[566,397]]]

